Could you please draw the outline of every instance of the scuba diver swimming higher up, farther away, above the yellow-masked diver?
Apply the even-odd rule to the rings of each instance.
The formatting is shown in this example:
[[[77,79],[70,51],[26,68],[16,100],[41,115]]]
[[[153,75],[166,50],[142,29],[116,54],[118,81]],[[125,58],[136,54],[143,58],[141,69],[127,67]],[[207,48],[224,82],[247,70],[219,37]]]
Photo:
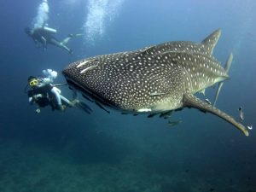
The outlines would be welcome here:
[[[64,38],[62,41],[59,41],[54,37],[54,34],[57,33],[57,30],[49,28],[48,26],[42,26],[38,28],[25,28],[26,34],[31,37],[35,44],[42,44],[43,49],[47,49],[48,44],[55,45],[61,49],[67,50],[69,54],[73,54],[73,50],[67,47],[67,43],[71,38],[82,36],[82,34],[69,34],[67,38]]]

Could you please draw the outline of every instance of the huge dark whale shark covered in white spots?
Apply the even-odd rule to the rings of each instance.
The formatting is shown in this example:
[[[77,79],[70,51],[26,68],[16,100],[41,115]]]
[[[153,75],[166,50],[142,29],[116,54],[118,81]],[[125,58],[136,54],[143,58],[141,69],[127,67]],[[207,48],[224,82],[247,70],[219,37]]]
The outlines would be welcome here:
[[[233,58],[230,54],[222,67],[213,55],[221,30],[201,43],[172,41],[134,51],[96,55],[75,61],[63,69],[67,84],[73,90],[106,110],[122,113],[148,113],[165,116],[183,108],[197,108],[224,119],[248,136],[247,128],[195,93],[204,93],[225,80]]]

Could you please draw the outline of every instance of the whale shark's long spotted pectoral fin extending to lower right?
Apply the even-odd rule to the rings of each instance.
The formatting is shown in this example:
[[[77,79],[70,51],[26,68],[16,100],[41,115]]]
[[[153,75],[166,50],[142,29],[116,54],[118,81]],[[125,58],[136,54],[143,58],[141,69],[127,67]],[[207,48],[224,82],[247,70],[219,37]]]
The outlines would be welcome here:
[[[183,96],[183,106],[187,108],[197,108],[204,113],[212,113],[218,117],[224,119],[230,124],[236,126],[236,128],[242,131],[246,136],[249,136],[249,133],[244,125],[238,123],[235,119],[230,117],[227,113],[222,112],[218,108],[214,108],[212,105],[209,105],[207,102],[201,101],[199,98],[193,96],[192,94],[185,94]]]

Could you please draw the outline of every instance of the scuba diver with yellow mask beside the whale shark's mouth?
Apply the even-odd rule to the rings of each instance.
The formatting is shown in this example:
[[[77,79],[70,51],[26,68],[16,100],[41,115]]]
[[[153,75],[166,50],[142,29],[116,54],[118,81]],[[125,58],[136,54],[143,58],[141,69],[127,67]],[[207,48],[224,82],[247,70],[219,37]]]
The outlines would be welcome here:
[[[79,102],[76,99],[76,94],[73,92],[73,100],[69,101],[66,97],[61,95],[61,90],[57,86],[65,84],[53,84],[54,79],[57,77],[57,73],[51,69],[43,70],[44,78],[38,78],[30,76],[27,79],[27,83],[30,87],[26,91],[29,97],[28,102],[31,104],[36,103],[36,113],[40,113],[41,109],[46,106],[50,106],[52,110],[64,111],[67,107],[72,108],[74,106],[84,110],[86,113],[91,113],[92,109],[84,102]]]

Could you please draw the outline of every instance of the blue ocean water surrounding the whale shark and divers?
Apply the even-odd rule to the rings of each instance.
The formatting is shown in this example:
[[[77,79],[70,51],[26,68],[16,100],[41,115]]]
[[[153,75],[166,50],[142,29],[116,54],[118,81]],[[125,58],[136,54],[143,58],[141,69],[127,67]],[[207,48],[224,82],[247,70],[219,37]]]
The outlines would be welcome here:
[[[219,61],[232,51],[230,79],[218,108],[245,125],[256,125],[256,3],[253,0],[41,0],[0,1],[0,191],[3,192],[253,192],[256,191],[254,128],[245,137],[210,113],[183,109],[166,126],[159,118],[110,114],[90,104],[65,113],[34,113],[24,88],[27,77],[61,70],[92,55],[140,49],[166,41],[200,42],[217,28]],[[24,28],[48,17],[56,38],[83,33],[68,46],[73,55],[33,44]],[[39,18],[39,19],[38,19]],[[67,87],[63,95],[71,97]],[[212,99],[215,90],[206,92]]]

